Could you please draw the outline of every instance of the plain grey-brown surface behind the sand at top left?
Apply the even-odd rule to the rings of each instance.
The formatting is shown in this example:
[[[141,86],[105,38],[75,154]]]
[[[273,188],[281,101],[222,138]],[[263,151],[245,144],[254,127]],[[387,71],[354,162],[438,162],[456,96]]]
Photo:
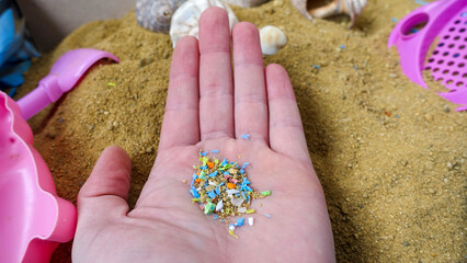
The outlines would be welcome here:
[[[80,25],[118,19],[135,8],[136,0],[16,0],[41,52],[53,49]]]

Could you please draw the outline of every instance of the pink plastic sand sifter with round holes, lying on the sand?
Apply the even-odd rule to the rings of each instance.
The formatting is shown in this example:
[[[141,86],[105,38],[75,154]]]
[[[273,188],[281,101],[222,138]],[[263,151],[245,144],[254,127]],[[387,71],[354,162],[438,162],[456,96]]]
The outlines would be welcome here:
[[[415,25],[425,23],[419,32]],[[425,66],[432,43],[438,43]],[[431,70],[433,78],[449,89],[438,93],[467,110],[467,0],[440,0],[421,7],[403,18],[392,30],[388,48],[397,45],[400,66],[411,81],[428,88],[421,71]]]

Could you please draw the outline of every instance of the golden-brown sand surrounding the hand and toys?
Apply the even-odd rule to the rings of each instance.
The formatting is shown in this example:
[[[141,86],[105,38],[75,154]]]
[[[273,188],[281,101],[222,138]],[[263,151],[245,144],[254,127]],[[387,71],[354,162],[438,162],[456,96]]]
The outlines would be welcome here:
[[[280,64],[289,73],[338,262],[466,260],[466,112],[438,96],[443,87],[429,75],[430,90],[410,82],[396,48],[386,45],[392,18],[419,7],[369,0],[352,30],[344,15],[310,22],[286,0],[234,8],[240,21],[275,25],[287,35],[287,45],[264,64]],[[15,99],[35,88],[61,54],[80,47],[111,52],[121,62],[94,67],[32,118],[34,146],[58,195],[75,204],[101,151],[123,147],[133,160],[134,205],[157,155],[170,37],[139,27],[132,11],[91,22],[34,60]],[[70,252],[71,242],[61,244],[53,262],[70,262]]]

